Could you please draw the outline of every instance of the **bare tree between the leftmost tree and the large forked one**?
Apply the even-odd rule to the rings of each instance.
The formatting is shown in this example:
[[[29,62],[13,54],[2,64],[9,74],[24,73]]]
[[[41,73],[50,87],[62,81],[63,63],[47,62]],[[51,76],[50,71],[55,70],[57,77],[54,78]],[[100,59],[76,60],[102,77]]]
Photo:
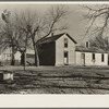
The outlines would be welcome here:
[[[23,16],[23,15],[21,15]],[[15,41],[15,47],[16,50],[21,52],[21,64],[24,65],[25,70],[25,64],[26,64],[26,49],[27,47],[29,48],[31,46],[31,40],[29,40],[29,33],[28,33],[28,25],[24,28],[25,22],[22,22],[24,17],[21,17],[17,12],[14,13],[14,27],[16,28],[16,37],[14,38]]]

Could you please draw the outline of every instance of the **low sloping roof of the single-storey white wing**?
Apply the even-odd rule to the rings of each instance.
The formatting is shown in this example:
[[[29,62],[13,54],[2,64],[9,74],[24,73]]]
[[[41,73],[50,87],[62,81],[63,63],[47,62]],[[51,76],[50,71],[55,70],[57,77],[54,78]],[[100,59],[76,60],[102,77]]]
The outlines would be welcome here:
[[[98,52],[98,53],[108,53],[108,51],[99,49],[97,47],[83,47],[83,46],[76,46],[75,51],[81,51],[81,52]]]

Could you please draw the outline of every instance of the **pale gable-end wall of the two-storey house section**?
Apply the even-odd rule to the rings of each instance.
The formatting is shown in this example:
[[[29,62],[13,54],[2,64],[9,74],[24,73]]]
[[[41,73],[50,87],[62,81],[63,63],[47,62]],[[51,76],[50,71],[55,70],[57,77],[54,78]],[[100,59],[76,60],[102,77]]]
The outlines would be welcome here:
[[[68,38],[68,48],[64,48],[64,38]],[[63,52],[69,52],[69,64],[75,63],[75,44],[66,36],[63,35],[56,40],[56,65],[64,64]]]

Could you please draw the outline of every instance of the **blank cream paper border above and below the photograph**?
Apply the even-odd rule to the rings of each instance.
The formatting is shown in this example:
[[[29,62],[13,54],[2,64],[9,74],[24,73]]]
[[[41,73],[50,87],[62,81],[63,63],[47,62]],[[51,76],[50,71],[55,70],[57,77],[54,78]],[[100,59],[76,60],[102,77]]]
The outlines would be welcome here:
[[[109,3],[109,1],[1,1],[0,3]],[[109,108],[109,95],[0,95],[0,108]]]

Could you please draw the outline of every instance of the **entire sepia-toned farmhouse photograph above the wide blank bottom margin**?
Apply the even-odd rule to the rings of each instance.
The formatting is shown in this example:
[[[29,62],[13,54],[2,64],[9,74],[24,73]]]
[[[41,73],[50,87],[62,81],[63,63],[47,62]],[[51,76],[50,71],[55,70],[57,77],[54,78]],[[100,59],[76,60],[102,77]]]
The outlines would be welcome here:
[[[0,94],[109,94],[109,2],[0,2]]]

